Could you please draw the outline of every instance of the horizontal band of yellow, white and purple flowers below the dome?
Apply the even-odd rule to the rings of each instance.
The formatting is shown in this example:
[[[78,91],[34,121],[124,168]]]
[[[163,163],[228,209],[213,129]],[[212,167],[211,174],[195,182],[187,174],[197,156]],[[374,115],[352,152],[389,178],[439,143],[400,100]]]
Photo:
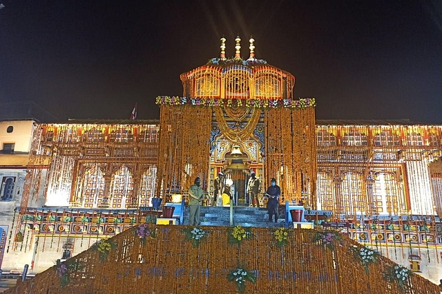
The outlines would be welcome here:
[[[219,107],[247,107],[256,108],[306,108],[315,107],[315,98],[290,99],[222,99],[222,98],[188,98],[178,96],[157,96],[155,100],[157,105],[194,105],[194,106],[219,106]]]

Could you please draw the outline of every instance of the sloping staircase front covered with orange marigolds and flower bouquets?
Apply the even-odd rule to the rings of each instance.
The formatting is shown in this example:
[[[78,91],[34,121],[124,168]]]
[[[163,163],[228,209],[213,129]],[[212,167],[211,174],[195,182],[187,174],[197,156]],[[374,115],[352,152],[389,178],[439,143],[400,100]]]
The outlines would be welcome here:
[[[440,293],[335,231],[140,226],[5,293]]]

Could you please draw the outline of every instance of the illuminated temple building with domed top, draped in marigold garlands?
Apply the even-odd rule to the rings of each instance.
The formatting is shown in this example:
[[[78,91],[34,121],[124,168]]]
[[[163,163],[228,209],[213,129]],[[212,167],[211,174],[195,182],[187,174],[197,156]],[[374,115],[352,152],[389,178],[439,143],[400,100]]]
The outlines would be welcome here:
[[[253,171],[262,192],[276,178],[282,206],[302,204],[316,226],[345,224],[353,240],[439,282],[442,125],[316,120],[320,101],[294,98],[295,77],[256,59],[253,39],[247,59],[239,38],[227,59],[225,41],[220,57],[180,76],[182,96],[156,98],[160,120],[32,122],[17,176],[5,172],[14,142],[0,124],[1,269],[44,271],[147,222],[154,198],[186,201],[197,176],[208,202],[222,172],[234,206],[248,207]]]

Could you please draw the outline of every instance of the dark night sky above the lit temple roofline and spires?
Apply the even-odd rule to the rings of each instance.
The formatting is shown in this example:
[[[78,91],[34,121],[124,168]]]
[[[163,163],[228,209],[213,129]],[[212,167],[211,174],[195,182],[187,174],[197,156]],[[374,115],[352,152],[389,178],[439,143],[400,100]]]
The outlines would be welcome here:
[[[180,74],[220,54],[296,76],[318,119],[442,123],[442,2],[0,0],[0,102],[60,120],[159,117]]]

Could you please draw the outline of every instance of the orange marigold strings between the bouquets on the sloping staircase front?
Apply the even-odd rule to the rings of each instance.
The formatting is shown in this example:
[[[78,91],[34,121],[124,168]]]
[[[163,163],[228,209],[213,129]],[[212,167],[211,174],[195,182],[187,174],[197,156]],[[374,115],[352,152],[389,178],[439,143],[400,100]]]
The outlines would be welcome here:
[[[337,288],[343,294],[367,293],[367,290],[370,293],[383,293],[385,289],[388,293],[399,293],[401,285],[406,287],[405,291],[416,294],[439,294],[440,292],[436,284],[425,280],[420,275],[405,276],[405,273],[410,275],[407,269],[403,271],[403,268],[399,266],[395,268],[397,264],[383,256],[378,257],[379,262],[370,265],[373,270],[369,275],[361,275],[361,266],[354,266],[355,260],[350,249],[355,243],[347,235],[342,235],[339,248],[336,248],[334,254],[329,254],[328,251],[316,248],[317,243],[306,242],[314,238],[318,232],[315,229],[290,230],[293,238],[289,238],[290,250],[284,251],[283,262],[285,264],[282,264],[280,249],[276,246],[269,246],[274,242],[273,232],[276,229],[251,228],[253,240],[243,242],[241,250],[235,253],[226,249],[225,242],[219,241],[219,238],[226,238],[232,233],[232,227],[204,227],[204,231],[216,238],[206,238],[204,250],[199,250],[197,255],[194,252],[195,249],[191,248],[192,246],[183,246],[185,235],[182,229],[184,227],[162,226],[161,228],[158,230],[157,238],[151,239],[151,244],[149,244],[151,246],[132,246],[140,240],[135,233],[137,227],[133,227],[106,241],[115,242],[124,250],[111,250],[111,255],[104,262],[99,261],[97,250],[92,248],[67,260],[65,262],[67,272],[64,266],[57,264],[60,270],[56,278],[68,273],[70,277],[68,287],[62,288],[61,281],[53,282],[57,268],[52,267],[48,271],[39,273],[32,280],[17,283],[15,288],[7,290],[6,293],[45,294],[48,291],[50,293],[100,293],[100,291],[105,291],[109,294],[119,294],[137,289],[138,291],[135,291],[137,293],[203,294],[219,293],[220,284],[224,286],[222,293],[242,291],[242,286],[244,286],[244,291],[251,293],[314,294],[318,291],[316,287],[318,284],[321,285],[323,294],[335,293]],[[302,251],[298,251],[301,248]],[[299,252],[309,253],[308,256],[306,255],[307,259]],[[238,260],[240,256],[244,257],[244,254],[247,254],[247,260]],[[79,266],[71,270],[68,261],[74,262],[75,260]],[[336,261],[339,266],[336,266]],[[243,266],[247,266],[250,271],[244,269]],[[229,277],[227,277],[229,273],[231,273],[230,277],[238,277],[238,269],[241,270],[240,277],[243,277],[244,271],[247,275],[251,274],[251,280],[240,283],[241,288],[238,288],[237,283],[242,279],[236,281],[235,278],[229,282]],[[392,275],[399,274],[400,281],[397,276],[391,276],[392,282],[386,281],[385,269],[391,269]],[[306,275],[298,275],[302,271]],[[140,278],[141,275],[142,278]],[[336,279],[336,275],[342,278]],[[110,278],[112,276],[114,278]],[[256,278],[256,282],[252,285],[253,277]],[[358,282],[345,277],[357,277]]]

